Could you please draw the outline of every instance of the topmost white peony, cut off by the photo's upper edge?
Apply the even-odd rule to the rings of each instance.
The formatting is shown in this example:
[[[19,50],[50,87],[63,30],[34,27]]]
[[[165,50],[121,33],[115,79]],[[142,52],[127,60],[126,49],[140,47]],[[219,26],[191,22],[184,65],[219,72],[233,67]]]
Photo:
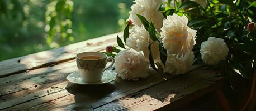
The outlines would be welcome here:
[[[129,19],[132,23],[138,26],[141,26],[140,19],[136,14],[144,16],[148,21],[154,23],[155,29],[160,32],[160,28],[163,26],[163,14],[158,11],[158,8],[161,5],[161,0],[135,0],[135,4],[131,6],[131,11]]]

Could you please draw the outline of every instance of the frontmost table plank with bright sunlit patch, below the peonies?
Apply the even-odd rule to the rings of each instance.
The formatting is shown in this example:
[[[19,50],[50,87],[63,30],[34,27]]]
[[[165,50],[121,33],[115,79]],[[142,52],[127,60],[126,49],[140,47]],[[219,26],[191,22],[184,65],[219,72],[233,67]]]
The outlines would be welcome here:
[[[94,110],[155,110],[159,108],[162,108],[159,110],[164,110],[164,106],[167,105],[169,107],[165,110],[171,110],[220,88],[220,82],[217,81],[222,78],[215,75],[215,72],[211,70],[197,70],[115,100]]]

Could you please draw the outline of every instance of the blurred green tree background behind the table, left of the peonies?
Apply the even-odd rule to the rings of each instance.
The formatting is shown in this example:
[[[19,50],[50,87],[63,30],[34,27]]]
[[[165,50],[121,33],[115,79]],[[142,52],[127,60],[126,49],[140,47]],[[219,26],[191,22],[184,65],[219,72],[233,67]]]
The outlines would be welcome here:
[[[0,0],[0,60],[119,32],[132,0]]]

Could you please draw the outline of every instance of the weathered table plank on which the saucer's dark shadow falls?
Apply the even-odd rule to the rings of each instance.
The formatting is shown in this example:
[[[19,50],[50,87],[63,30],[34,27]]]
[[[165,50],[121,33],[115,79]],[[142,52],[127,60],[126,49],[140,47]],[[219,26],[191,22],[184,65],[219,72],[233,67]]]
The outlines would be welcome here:
[[[67,90],[59,90],[59,92],[49,95],[41,93],[45,92],[45,89],[40,92],[36,92],[36,95],[40,93],[39,97],[31,96],[35,93],[29,94],[30,96],[28,95],[27,97],[23,97],[19,102],[9,105],[10,108],[5,108],[7,108],[6,110],[23,110],[26,108],[29,108],[28,110],[30,110],[31,108],[33,110],[39,110],[40,108],[42,108],[43,105],[43,108],[46,110],[59,109],[60,106],[61,108],[71,110],[74,108],[98,107],[99,105],[106,104],[115,99],[125,97],[127,94],[132,94],[134,92],[149,88],[155,84],[162,83],[166,80],[166,78],[168,79],[171,77],[171,75],[168,75],[167,77],[165,77],[165,79],[163,79],[163,76],[161,75],[151,74],[149,78],[141,79],[138,82],[120,80],[120,78],[118,78],[115,82],[106,85],[99,85],[98,88],[74,85],[73,87],[67,88]],[[61,85],[60,88],[64,86],[65,85]],[[61,94],[58,94],[60,92]],[[15,99],[13,99],[12,101],[15,102]],[[10,102],[8,104],[11,104],[13,102]]]

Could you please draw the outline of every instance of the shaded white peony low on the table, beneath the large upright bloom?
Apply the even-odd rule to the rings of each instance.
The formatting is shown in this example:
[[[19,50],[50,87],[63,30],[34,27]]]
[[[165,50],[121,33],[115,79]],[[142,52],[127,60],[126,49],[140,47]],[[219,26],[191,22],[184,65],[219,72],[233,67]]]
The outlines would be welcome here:
[[[164,73],[173,75],[184,74],[189,71],[194,61],[193,51],[189,51],[181,58],[177,58],[174,54],[169,54],[165,66],[162,64]]]

